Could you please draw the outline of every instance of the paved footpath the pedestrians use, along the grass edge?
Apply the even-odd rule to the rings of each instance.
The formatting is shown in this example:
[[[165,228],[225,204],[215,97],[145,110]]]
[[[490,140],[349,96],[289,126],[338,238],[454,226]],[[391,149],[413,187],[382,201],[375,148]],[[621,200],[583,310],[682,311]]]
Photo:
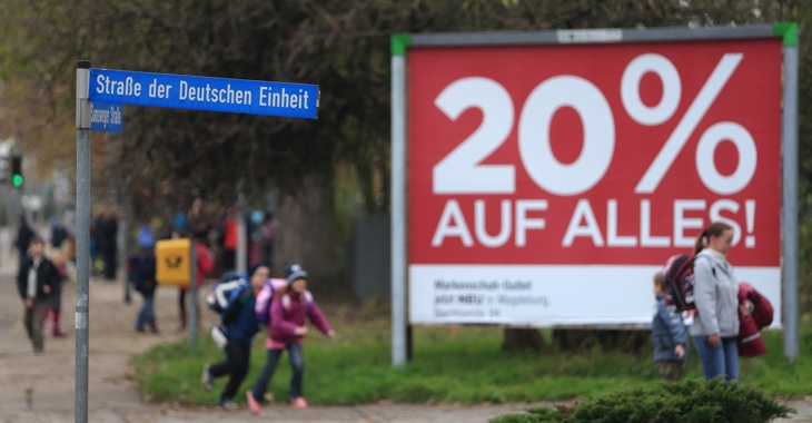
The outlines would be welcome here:
[[[2,253],[0,253],[2,254]],[[14,288],[13,269],[0,262],[0,422],[62,423],[73,421],[75,286],[63,293],[62,328],[66,338],[47,336],[46,352],[34,355],[21,324],[21,303]],[[487,422],[543,403],[477,406],[372,404],[310,406],[304,411],[270,405],[259,416],[245,407],[228,412],[220,407],[188,407],[149,404],[139,396],[130,378],[130,356],[151,345],[177,340],[176,292],[158,289],[158,321],[166,322],[158,336],[136,335],[131,329],[137,298],[123,304],[120,283],[90,285],[89,422],[92,423],[221,423],[227,422]],[[786,422],[812,422],[812,399],[793,401],[800,414]]]

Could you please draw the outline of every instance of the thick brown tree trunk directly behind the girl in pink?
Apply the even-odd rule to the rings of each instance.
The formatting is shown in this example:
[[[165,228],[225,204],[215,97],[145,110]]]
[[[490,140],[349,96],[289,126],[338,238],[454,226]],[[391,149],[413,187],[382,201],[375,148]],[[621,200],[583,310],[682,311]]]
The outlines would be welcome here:
[[[296,196],[286,195],[278,204],[275,276],[283,276],[285,266],[298,263],[311,281],[335,279],[338,266],[333,181],[306,176]]]

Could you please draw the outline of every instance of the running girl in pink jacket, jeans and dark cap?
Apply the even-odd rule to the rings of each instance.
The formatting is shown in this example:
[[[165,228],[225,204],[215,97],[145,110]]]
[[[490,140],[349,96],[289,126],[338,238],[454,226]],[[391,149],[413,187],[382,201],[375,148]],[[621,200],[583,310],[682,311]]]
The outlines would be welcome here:
[[[257,414],[261,410],[260,401],[265,401],[265,392],[274,376],[284,350],[288,351],[288,358],[293,370],[290,378],[290,403],[295,409],[306,409],[301,387],[305,373],[305,356],[301,350],[301,340],[308,334],[306,319],[309,319],[323,334],[335,336],[327,318],[307,291],[307,272],[301,266],[293,264],[285,268],[287,286],[274,293],[270,303],[270,323],[265,347],[268,351],[268,361],[259,376],[248,392],[248,407]]]

